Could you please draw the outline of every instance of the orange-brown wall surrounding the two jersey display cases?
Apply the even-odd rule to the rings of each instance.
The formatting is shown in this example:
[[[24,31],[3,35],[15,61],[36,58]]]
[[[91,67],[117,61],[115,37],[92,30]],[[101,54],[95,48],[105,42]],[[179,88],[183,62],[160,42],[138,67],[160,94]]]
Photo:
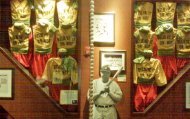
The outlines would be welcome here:
[[[142,1],[142,0],[139,0]],[[156,0],[162,1],[163,0]],[[155,2],[152,3],[155,5]],[[172,1],[172,0],[171,0]],[[143,112],[136,112],[134,109],[134,94],[135,85],[133,84],[133,59],[135,58],[134,46],[134,4],[138,1],[133,0],[95,0],[95,13],[107,15],[111,13],[114,15],[114,43],[98,43],[94,45],[94,79],[100,77],[100,65],[103,54],[114,55],[117,51],[119,55],[125,54],[125,70],[122,72],[122,77],[116,80],[119,84],[123,98],[116,105],[119,119],[138,119],[138,118],[188,118],[190,116],[188,108],[186,108],[186,91],[185,85],[189,81],[189,65],[185,66],[179,72],[177,80],[171,81],[162,89],[159,89],[158,98],[155,99],[150,107]],[[146,2],[151,2],[146,0]],[[173,0],[173,2],[180,3],[181,1]],[[3,0],[0,3],[0,46],[9,49],[8,27],[10,24],[10,5],[9,1]],[[154,6],[155,7],[155,6]],[[36,86],[30,77],[26,76],[23,69],[20,69],[11,55],[4,55],[1,50],[0,56],[2,62],[0,68],[13,68],[14,71],[14,98],[11,100],[0,99],[2,105],[13,117],[29,117],[33,115],[36,118],[80,118],[87,119],[89,115],[89,102],[87,100],[87,91],[89,89],[90,79],[90,57],[89,57],[89,10],[90,1],[79,1],[79,18],[78,18],[78,41],[77,41],[77,62],[79,65],[79,111],[72,117],[65,117],[63,110],[55,106],[54,101],[49,99],[42,90]],[[155,10],[155,9],[154,9]],[[155,13],[155,11],[154,11]],[[155,14],[154,14],[155,15]],[[174,20],[176,22],[176,18]],[[153,17],[152,28],[155,28],[155,16]],[[176,23],[174,23],[176,25]],[[7,52],[7,51],[6,51]],[[118,53],[118,52],[117,52]],[[102,55],[101,55],[102,54]],[[106,58],[105,58],[106,59]],[[122,58],[121,58],[122,59]],[[7,62],[7,63],[4,63]],[[188,72],[187,72],[188,71]],[[27,90],[23,90],[27,89]],[[40,103],[39,103],[40,102]],[[36,105],[36,106],[34,106]],[[44,106],[46,105],[46,106]],[[14,106],[14,108],[12,107]],[[46,107],[44,109],[44,107]],[[17,108],[17,109],[15,109]],[[26,112],[23,113],[22,110]],[[38,112],[36,112],[36,110]],[[51,114],[50,114],[51,113]],[[80,115],[80,117],[78,117]]]

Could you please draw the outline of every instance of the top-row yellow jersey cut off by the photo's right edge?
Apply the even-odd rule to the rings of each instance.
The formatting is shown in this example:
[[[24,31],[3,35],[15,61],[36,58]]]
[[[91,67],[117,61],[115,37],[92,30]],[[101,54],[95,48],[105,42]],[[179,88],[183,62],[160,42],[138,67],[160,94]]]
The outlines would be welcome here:
[[[178,28],[190,25],[190,3],[179,3],[177,6],[177,25]]]

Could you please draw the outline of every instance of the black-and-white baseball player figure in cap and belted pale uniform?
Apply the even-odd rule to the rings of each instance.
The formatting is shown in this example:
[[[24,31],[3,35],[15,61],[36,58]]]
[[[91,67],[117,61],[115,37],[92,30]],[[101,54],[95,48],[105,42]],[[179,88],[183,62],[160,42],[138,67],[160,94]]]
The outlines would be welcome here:
[[[110,79],[110,68],[101,68],[101,78],[93,81],[93,119],[117,119],[115,104],[122,98],[119,85]]]

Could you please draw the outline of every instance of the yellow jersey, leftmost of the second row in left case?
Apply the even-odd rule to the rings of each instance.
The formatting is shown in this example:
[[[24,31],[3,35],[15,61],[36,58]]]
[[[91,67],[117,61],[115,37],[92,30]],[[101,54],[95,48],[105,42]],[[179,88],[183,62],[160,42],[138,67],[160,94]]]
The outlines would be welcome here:
[[[27,54],[31,28],[23,24],[23,26],[20,27],[9,27],[8,32],[11,51],[20,54]]]

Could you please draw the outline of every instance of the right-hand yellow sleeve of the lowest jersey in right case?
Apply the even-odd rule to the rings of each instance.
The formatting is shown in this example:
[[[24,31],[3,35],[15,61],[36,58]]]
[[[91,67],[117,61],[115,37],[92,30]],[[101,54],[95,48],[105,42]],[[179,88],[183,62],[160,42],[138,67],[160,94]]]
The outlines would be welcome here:
[[[164,70],[162,68],[160,61],[158,62],[158,66],[156,69],[155,80],[156,80],[156,84],[158,86],[163,86],[163,85],[167,84],[167,79],[166,79],[166,76],[165,76],[165,73],[164,73]]]

